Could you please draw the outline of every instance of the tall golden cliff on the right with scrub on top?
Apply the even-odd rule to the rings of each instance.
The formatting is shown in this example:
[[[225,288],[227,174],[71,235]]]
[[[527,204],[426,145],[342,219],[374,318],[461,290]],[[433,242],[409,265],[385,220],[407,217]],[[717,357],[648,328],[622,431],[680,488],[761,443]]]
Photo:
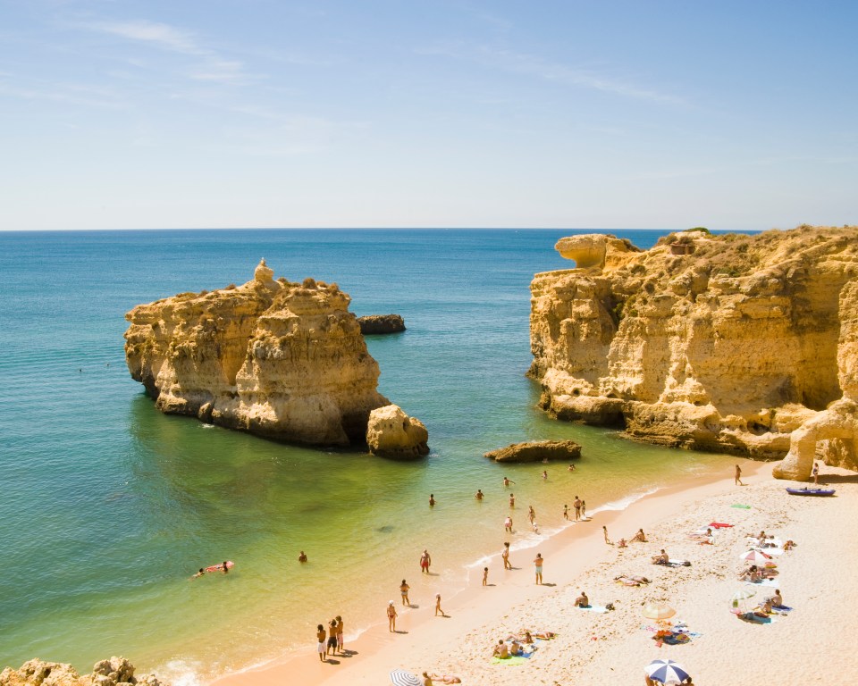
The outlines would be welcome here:
[[[858,399],[858,227],[694,230],[645,252],[577,236],[557,249],[588,266],[535,275],[528,373],[561,419],[778,458],[804,422]],[[854,464],[852,439],[831,439],[816,449]]]

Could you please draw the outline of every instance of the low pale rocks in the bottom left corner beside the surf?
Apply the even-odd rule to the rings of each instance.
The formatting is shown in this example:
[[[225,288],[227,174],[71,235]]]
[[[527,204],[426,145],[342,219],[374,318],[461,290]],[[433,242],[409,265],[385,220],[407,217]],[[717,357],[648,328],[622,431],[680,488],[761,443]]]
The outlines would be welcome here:
[[[134,665],[124,657],[111,657],[97,662],[91,674],[81,676],[71,665],[30,660],[14,670],[6,667],[0,673],[0,686],[163,686],[151,674],[134,676]]]

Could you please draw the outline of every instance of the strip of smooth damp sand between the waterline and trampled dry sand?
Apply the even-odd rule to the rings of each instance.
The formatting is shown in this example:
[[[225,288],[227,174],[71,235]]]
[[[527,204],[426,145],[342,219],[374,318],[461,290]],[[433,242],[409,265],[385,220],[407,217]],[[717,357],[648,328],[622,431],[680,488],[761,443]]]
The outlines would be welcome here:
[[[754,462],[742,458],[737,460],[743,468],[743,480],[748,484],[770,481],[769,462]],[[618,540],[619,535],[631,537],[638,528],[648,528],[665,519],[665,506],[677,498],[685,502],[699,501],[711,498],[724,492],[741,489],[731,482],[732,464],[725,465],[725,476],[706,478],[685,477],[661,487],[654,492],[641,494],[623,509],[611,509],[616,503],[606,503],[604,506],[593,508],[592,516],[585,522],[568,525],[554,532],[550,538],[535,541],[530,545],[513,548],[510,560],[514,569],[504,572],[501,565],[500,551],[492,554],[485,562],[489,566],[489,584],[483,589],[482,574],[479,566],[483,560],[463,566],[466,575],[465,587],[449,597],[443,594],[443,607],[450,615],[447,619],[435,617],[433,598],[416,596],[412,588],[413,609],[405,609],[399,604],[397,589],[398,580],[391,580],[391,591],[383,592],[379,600],[379,619],[371,623],[366,630],[351,641],[346,641],[345,656],[337,656],[335,661],[322,663],[318,660],[312,637],[307,640],[307,648],[291,651],[289,654],[275,658],[265,665],[255,665],[240,672],[218,677],[213,686],[268,686],[282,682],[288,674],[290,678],[298,678],[304,683],[332,684],[379,682],[380,674],[386,679],[387,673],[394,667],[408,664],[405,658],[419,650],[429,654],[441,654],[444,645],[455,642],[456,637],[473,636],[474,627],[484,624],[487,619],[494,623],[509,616],[509,607],[534,602],[545,595],[547,590],[568,586],[582,577],[595,565],[604,565],[611,556],[616,556],[618,548],[604,543],[601,527],[606,526],[612,539]],[[629,496],[628,498],[633,498]],[[623,498],[617,502],[623,502]],[[673,505],[670,505],[671,507]],[[651,544],[630,544],[628,550],[635,547],[651,548]],[[533,565],[529,555],[540,552],[546,559],[545,577],[542,586],[534,582]],[[625,552],[625,551],[624,551]],[[656,551],[657,552],[657,551]],[[476,571],[476,573],[472,573]],[[386,581],[385,581],[386,584]],[[420,592],[420,591],[418,591]],[[503,604],[499,606],[498,597],[502,593]],[[391,634],[385,631],[384,605],[381,596],[391,597],[397,607],[397,631]],[[348,621],[348,618],[347,618]],[[520,627],[510,627],[517,631]],[[550,627],[549,627],[550,628]],[[348,635],[348,628],[347,628]],[[491,645],[492,637],[484,637],[486,646]],[[434,660],[435,663],[438,660]],[[416,668],[414,668],[416,671]],[[439,672],[442,668],[424,666],[429,672]],[[422,671],[422,669],[420,671]],[[386,671],[385,671],[386,670]],[[473,682],[460,673],[463,682]]]

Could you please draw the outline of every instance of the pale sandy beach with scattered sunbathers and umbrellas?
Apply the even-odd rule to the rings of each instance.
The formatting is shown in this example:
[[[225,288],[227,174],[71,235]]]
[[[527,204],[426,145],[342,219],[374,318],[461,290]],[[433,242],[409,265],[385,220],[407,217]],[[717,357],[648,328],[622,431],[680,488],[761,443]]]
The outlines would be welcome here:
[[[740,682],[753,674],[777,673],[778,683],[839,681],[858,673],[858,657],[838,654],[825,659],[837,632],[851,635],[852,608],[858,591],[847,580],[858,561],[852,518],[858,511],[858,476],[826,467],[823,481],[837,489],[835,498],[787,495],[787,481],[770,476],[770,464],[742,461],[747,485],[733,483],[732,465],[725,478],[710,483],[686,482],[661,489],[620,512],[604,512],[546,541],[543,547],[517,551],[515,569],[504,571],[500,555],[490,567],[489,586],[482,568],[470,570],[467,590],[444,598],[449,617],[435,617],[434,593],[412,591],[415,607],[403,608],[396,592],[399,580],[385,580],[379,591],[379,622],[354,642],[347,653],[321,663],[313,638],[307,651],[269,665],[234,673],[217,686],[267,686],[290,682],[311,684],[389,683],[394,668],[412,673],[456,674],[462,683],[571,684],[581,682],[643,683],[644,665],[670,658],[686,667],[695,683]],[[735,507],[742,505],[747,507]],[[688,536],[711,522],[732,523],[715,532],[714,545]],[[627,548],[607,545],[631,537],[643,527],[648,542]],[[746,534],[765,530],[796,547],[773,556],[777,587],[793,609],[769,621],[745,622],[730,613],[737,590],[753,590],[748,608],[774,587],[746,584],[736,578],[739,557],[748,549]],[[671,558],[690,566],[652,565],[665,548]],[[536,585],[533,558],[545,558],[544,583]],[[614,581],[621,573],[644,576],[651,583],[627,587]],[[387,588],[387,587],[390,588]],[[613,611],[573,607],[585,590],[593,607],[612,603]],[[443,593],[439,588],[438,592]],[[393,599],[399,612],[397,633],[388,631],[384,607]],[[651,619],[642,615],[648,601],[664,601],[677,610],[670,622],[684,623],[691,640],[660,645]],[[346,618],[348,621],[348,618]],[[536,642],[531,657],[492,664],[492,646],[522,629],[556,632],[553,640]],[[348,638],[348,629],[347,629]]]

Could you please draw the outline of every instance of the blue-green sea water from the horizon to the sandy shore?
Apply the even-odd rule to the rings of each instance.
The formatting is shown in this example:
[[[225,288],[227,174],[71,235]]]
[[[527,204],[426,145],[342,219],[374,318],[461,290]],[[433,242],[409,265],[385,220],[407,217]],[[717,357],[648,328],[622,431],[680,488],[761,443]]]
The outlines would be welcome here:
[[[529,504],[551,533],[576,494],[593,512],[722,468],[721,456],[631,443],[535,408],[528,285],[571,265],[553,250],[569,233],[0,233],[0,665],[38,656],[88,671],[122,654],[205,681],[306,646],[333,615],[353,635],[383,619],[403,577],[412,598],[462,587],[467,565],[505,540],[504,473],[516,481],[521,548],[538,540],[518,526]],[[639,247],[659,235],[618,233]],[[336,281],[358,315],[405,317],[408,331],[367,345],[383,394],[428,427],[429,458],[307,450],[155,410],[125,368],[123,314],[249,280],[260,257],[276,276]],[[482,457],[541,438],[580,442],[576,473],[551,464],[543,481],[542,464]],[[417,573],[423,548],[432,579]],[[189,581],[225,558],[234,573]]]

